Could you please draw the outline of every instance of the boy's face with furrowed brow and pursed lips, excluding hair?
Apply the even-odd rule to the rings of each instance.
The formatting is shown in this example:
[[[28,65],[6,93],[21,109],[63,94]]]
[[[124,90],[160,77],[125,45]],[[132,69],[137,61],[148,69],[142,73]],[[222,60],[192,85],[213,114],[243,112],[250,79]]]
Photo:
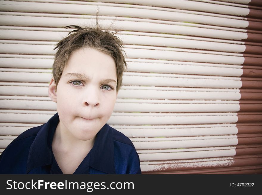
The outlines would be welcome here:
[[[111,56],[93,48],[73,52],[57,92],[54,81],[49,85],[49,96],[54,93],[50,98],[57,102],[62,132],[79,140],[92,139],[113,112],[116,81],[116,65]]]

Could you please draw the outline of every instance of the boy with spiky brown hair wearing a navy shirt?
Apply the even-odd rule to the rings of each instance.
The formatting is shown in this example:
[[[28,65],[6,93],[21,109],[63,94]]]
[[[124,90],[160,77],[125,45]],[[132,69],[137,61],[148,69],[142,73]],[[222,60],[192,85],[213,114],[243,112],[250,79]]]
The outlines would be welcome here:
[[[57,113],[26,130],[0,156],[1,174],[141,174],[130,139],[106,124],[122,84],[122,41],[75,28],[54,56],[49,97]]]

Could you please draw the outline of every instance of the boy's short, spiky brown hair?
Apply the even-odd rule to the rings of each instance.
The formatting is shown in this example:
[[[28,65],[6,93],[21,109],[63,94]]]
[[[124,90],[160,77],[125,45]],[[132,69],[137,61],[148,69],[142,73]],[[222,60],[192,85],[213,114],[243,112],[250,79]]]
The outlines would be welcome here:
[[[122,50],[123,42],[114,36],[116,32],[102,31],[98,23],[96,28],[82,28],[75,25],[66,26],[65,28],[74,28],[75,30],[69,32],[68,36],[57,43],[57,46],[54,48],[54,50],[58,49],[54,55],[52,72],[55,84],[58,84],[62,72],[74,51],[80,48],[93,48],[110,55],[114,59],[117,75],[116,91],[118,92],[122,85],[122,76],[127,68],[127,64]]]

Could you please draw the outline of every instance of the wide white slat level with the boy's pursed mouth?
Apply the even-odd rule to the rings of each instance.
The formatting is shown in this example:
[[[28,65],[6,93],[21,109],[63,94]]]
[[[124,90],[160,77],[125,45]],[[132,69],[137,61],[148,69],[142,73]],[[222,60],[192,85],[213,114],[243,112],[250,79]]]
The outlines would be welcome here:
[[[11,110],[10,110],[11,111]],[[27,110],[26,110],[27,111]],[[16,114],[8,113],[8,110],[4,110],[5,113],[0,113],[0,122],[33,122],[33,123],[45,123],[53,115],[52,114]],[[32,111],[27,111],[25,113],[32,113]],[[55,113],[55,111],[54,111]],[[135,115],[132,115],[135,114]],[[140,115],[139,113],[113,113],[110,119],[107,121],[109,125],[172,125],[172,124],[214,124],[214,123],[235,123],[238,120],[236,115],[230,115],[228,113],[201,113],[191,114],[186,116],[185,114],[175,115],[165,115],[161,114],[157,116],[157,113],[152,113],[152,116]],[[150,113],[149,113],[150,115]]]

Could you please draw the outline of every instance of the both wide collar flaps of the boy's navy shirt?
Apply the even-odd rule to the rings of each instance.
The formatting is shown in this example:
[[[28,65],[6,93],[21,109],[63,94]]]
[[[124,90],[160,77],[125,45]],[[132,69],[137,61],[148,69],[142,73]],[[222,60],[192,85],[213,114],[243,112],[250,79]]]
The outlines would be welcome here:
[[[58,122],[59,116],[56,113],[39,130],[29,150],[27,173],[34,168],[53,163],[51,145]],[[90,151],[90,166],[108,174],[116,173],[113,131],[107,124],[96,134],[95,143]]]

